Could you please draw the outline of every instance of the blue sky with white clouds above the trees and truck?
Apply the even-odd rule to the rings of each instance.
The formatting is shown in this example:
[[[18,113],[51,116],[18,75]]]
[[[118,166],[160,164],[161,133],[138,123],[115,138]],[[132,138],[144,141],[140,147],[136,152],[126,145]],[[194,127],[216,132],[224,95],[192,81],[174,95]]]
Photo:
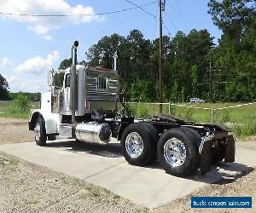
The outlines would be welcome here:
[[[158,16],[154,0],[130,0]],[[174,37],[177,31],[207,29],[217,43],[221,32],[207,14],[208,0],[166,0],[164,25]],[[116,14],[104,12],[134,8],[126,0],[0,0],[0,13],[12,14],[91,14],[73,17],[30,17],[0,14],[0,73],[11,92],[44,92],[47,72],[71,57],[73,41],[79,41],[78,60],[102,37],[118,33],[127,36],[133,29],[147,39],[159,35],[159,22],[141,9]],[[168,35],[166,28],[163,34]]]

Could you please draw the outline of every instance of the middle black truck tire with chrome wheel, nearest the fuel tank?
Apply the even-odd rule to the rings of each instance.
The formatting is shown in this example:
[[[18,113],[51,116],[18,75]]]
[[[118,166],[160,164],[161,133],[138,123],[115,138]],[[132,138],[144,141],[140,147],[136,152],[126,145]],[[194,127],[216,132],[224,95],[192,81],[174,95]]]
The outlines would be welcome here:
[[[155,152],[153,141],[150,140],[150,131],[146,125],[128,125],[121,136],[121,149],[125,160],[132,165],[148,164]]]

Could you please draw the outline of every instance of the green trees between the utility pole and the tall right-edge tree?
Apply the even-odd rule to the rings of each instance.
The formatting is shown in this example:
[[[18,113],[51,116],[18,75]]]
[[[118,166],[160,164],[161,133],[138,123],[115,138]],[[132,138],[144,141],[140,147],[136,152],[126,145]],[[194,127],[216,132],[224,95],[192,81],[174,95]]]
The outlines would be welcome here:
[[[207,30],[195,29],[188,35],[177,32],[172,40],[166,40],[163,66],[166,101],[188,101],[195,95],[207,98],[208,89],[200,85],[209,78],[207,55],[213,48],[212,40]]]

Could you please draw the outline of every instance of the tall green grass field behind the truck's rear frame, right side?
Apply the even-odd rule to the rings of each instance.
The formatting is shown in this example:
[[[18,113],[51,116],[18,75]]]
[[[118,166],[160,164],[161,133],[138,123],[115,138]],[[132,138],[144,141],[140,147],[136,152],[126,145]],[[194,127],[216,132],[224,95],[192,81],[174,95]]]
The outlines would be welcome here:
[[[256,104],[236,107],[223,110],[213,110],[212,120],[212,108],[222,108],[236,106],[241,103],[203,103],[203,104],[187,104],[181,105],[187,107],[171,106],[171,114],[177,118],[182,118],[187,121],[193,121],[196,123],[215,123],[224,126],[225,128],[235,132],[237,137],[244,138],[248,135],[256,135]],[[145,104],[145,103],[132,103],[129,105],[131,111],[137,118],[152,118],[159,114],[159,105]],[[189,107],[201,107],[209,108],[195,109]],[[168,114],[168,105],[163,106],[163,113]]]

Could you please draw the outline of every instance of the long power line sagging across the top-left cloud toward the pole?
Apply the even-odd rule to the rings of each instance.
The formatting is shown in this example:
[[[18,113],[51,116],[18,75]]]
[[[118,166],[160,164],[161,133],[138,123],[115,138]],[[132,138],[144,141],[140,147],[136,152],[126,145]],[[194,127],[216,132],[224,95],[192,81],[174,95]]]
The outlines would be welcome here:
[[[75,17],[75,16],[94,16],[94,15],[103,15],[103,14],[117,14],[117,13],[122,13],[131,9],[143,9],[143,7],[146,7],[148,5],[158,3],[158,1],[154,1],[152,3],[146,3],[140,6],[136,6],[133,8],[127,8],[127,9],[119,9],[119,10],[114,10],[114,11],[109,11],[109,12],[102,12],[102,13],[96,13],[96,14],[14,14],[14,13],[5,13],[5,12],[0,12],[0,14],[4,15],[17,15],[17,16],[30,16],[30,17]],[[144,10],[144,9],[143,9]],[[146,11],[146,10],[145,10]],[[155,16],[154,16],[155,17]]]

